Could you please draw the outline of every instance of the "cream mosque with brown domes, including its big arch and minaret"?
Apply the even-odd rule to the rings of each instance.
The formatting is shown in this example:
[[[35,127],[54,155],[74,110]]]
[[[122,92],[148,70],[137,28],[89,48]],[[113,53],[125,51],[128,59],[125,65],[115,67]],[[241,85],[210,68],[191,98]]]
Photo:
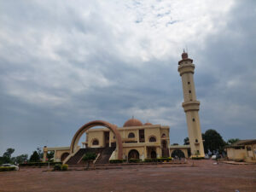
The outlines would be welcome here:
[[[95,120],[83,125],[73,136],[69,147],[44,147],[44,160],[48,151],[55,151],[54,160],[72,164],[80,164],[84,154],[97,154],[96,164],[108,163],[109,160],[156,159],[160,157],[204,157],[199,119],[200,102],[196,100],[194,84],[195,65],[183,52],[182,60],[178,61],[178,72],[183,82],[182,104],[186,113],[189,132],[189,145],[171,145],[170,127],[167,125],[152,125],[139,119],[128,119],[122,127],[117,127],[106,121]],[[101,128],[90,129],[101,126]],[[86,133],[83,146],[79,139]]]

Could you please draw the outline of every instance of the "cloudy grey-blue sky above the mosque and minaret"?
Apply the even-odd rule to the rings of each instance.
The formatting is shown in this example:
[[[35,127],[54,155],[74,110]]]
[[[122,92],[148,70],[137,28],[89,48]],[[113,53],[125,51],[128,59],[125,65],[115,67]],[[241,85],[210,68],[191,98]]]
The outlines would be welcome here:
[[[201,130],[256,138],[256,1],[0,3],[0,155],[68,146],[90,120],[132,115],[183,144],[183,48]]]

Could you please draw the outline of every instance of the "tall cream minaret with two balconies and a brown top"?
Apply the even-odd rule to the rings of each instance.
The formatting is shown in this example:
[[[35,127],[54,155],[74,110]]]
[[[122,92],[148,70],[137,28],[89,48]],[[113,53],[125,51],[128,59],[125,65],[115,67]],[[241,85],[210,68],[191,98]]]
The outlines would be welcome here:
[[[178,61],[177,71],[183,81],[183,108],[186,113],[191,154],[192,156],[204,157],[205,153],[198,114],[200,102],[196,100],[195,96],[194,69],[193,60],[189,59],[188,54],[183,50],[182,60]]]

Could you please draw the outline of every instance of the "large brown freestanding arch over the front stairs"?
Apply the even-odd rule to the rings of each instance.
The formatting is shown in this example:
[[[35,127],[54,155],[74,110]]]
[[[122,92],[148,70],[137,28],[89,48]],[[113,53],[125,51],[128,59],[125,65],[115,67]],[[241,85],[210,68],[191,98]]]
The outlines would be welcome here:
[[[117,130],[117,126],[113,125],[111,123],[108,123],[107,121],[103,120],[94,120],[90,121],[89,123],[83,125],[80,127],[79,131],[75,133],[73,136],[72,142],[70,144],[70,152],[73,154],[74,149],[78,146],[79,139],[82,137],[85,131],[89,130],[91,127],[94,126],[104,126],[108,128],[109,130],[113,131],[113,135],[116,137],[116,143],[117,143],[117,149],[118,149],[118,159],[123,159],[123,144],[122,144],[122,139],[119,134],[119,131]]]

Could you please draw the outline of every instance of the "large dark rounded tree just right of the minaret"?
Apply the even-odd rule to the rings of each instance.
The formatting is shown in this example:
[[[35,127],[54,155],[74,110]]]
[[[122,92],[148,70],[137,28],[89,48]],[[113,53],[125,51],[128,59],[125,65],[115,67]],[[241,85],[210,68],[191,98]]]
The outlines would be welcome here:
[[[206,153],[208,149],[210,151],[218,150],[219,153],[222,153],[224,146],[226,145],[218,131],[215,130],[207,130],[205,134],[202,134],[202,139],[204,140],[204,148]]]

